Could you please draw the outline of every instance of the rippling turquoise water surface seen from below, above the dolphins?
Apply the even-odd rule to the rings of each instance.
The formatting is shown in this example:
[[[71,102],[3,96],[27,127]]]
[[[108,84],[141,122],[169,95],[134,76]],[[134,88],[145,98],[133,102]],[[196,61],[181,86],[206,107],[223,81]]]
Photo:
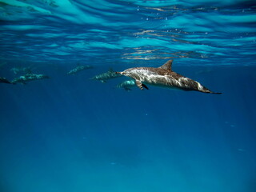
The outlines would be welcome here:
[[[239,59],[254,56],[256,17],[250,1],[2,1],[1,9],[6,22],[0,57],[5,59],[22,55],[38,61],[43,54],[42,61],[90,61],[110,51],[112,61],[127,53],[129,59],[149,60],[182,58],[177,53],[186,52],[188,58],[222,56],[225,64],[230,52]],[[10,44],[17,36],[22,41]],[[134,52],[145,47],[154,53]]]

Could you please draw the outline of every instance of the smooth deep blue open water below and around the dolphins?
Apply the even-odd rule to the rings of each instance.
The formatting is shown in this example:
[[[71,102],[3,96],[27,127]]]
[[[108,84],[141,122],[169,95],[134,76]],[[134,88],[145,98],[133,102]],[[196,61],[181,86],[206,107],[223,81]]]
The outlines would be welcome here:
[[[104,70],[0,85],[2,191],[254,191],[254,66],[174,67],[221,95],[89,80]]]

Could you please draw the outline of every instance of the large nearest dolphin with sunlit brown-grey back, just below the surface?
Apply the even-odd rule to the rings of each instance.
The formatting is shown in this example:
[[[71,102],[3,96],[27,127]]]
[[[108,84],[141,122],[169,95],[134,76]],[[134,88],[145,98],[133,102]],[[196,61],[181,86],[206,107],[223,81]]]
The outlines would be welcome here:
[[[196,90],[208,94],[221,94],[214,93],[190,78],[186,78],[181,74],[177,74],[171,70],[173,60],[169,60],[164,65],[154,67],[134,67],[122,72],[116,72],[130,78],[134,78],[136,85],[143,90],[143,87],[149,89],[145,84],[148,83],[153,86],[163,86],[171,89],[178,90]]]

